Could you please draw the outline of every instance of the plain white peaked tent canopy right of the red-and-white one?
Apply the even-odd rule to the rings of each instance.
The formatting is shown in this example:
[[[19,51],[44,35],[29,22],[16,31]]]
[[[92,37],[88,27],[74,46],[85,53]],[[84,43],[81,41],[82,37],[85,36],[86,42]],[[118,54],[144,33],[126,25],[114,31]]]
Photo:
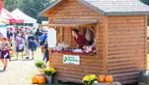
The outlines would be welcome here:
[[[25,13],[23,13],[22,11],[20,11],[19,9],[15,9],[14,11],[11,12],[11,15],[17,17],[17,18],[21,18],[24,20],[24,23],[36,23],[37,20],[26,15]]]

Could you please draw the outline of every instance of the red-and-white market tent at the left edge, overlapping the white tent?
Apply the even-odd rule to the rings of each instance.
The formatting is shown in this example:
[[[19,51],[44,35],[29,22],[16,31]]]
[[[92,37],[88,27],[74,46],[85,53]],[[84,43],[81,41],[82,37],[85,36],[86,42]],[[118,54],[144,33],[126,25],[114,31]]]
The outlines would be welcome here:
[[[0,10],[0,21],[5,21],[6,23],[23,23],[24,20],[14,17],[5,8]]]

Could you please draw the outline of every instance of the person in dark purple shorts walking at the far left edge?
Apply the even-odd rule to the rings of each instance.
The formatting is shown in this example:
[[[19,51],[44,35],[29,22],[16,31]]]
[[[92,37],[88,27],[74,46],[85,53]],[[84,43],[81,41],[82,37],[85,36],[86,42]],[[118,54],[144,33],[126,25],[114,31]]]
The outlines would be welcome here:
[[[7,65],[8,65],[8,60],[10,60],[10,45],[9,45],[9,42],[6,38],[2,39],[0,48],[1,48],[1,57],[0,57],[0,59],[3,63],[3,65],[4,65],[3,71],[5,71],[6,68],[7,68]]]

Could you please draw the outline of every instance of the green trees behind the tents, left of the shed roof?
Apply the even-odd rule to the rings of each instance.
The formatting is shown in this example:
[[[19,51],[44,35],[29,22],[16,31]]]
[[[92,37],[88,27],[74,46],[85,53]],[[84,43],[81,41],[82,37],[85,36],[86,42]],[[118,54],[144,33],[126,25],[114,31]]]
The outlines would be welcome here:
[[[19,8],[27,15],[37,18],[40,11],[55,1],[56,0],[4,0],[4,8],[10,12]]]

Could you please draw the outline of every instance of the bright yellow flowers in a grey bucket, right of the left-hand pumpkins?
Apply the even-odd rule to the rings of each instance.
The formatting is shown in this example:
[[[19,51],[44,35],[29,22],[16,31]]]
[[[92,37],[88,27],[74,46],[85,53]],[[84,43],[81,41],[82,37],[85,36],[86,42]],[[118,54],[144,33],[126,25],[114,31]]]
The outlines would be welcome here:
[[[54,75],[55,73],[56,73],[56,70],[55,70],[54,68],[52,68],[52,67],[47,67],[47,68],[45,68],[44,74],[46,75],[47,82],[48,82],[49,84],[52,83],[52,77],[53,77],[53,75]]]

